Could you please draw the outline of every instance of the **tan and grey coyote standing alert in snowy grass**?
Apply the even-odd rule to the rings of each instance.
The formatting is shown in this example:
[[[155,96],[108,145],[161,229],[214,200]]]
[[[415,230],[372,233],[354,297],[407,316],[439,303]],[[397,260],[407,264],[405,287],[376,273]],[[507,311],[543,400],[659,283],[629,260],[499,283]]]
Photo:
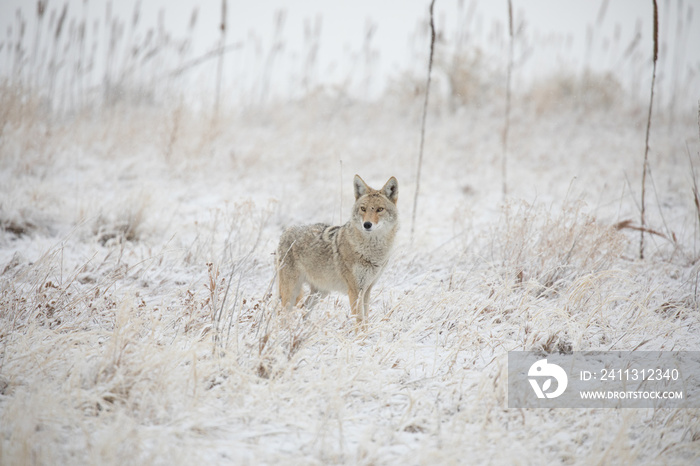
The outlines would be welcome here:
[[[283,306],[299,303],[304,283],[311,288],[305,301],[309,308],[319,295],[340,291],[348,295],[359,326],[365,324],[372,286],[387,264],[399,228],[399,184],[392,176],[375,190],[355,175],[353,186],[355,204],[345,225],[316,223],[282,233],[277,270]]]

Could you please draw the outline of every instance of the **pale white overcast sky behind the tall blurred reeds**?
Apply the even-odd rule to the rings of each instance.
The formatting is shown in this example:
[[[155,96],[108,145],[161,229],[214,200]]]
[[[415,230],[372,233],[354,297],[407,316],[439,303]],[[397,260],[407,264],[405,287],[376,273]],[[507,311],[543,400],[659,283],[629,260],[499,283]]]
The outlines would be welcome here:
[[[64,2],[48,2],[49,11],[62,8]],[[69,17],[84,17],[104,21],[110,2],[95,0],[70,0]],[[129,21],[136,2],[126,0],[111,2],[113,15]],[[164,26],[173,37],[185,37],[195,6],[198,6],[196,28],[192,34],[191,57],[210,50],[219,40],[221,21],[220,1],[149,0],[141,3],[140,30],[145,35],[148,28],[158,24],[159,11],[163,11]],[[284,49],[274,62],[271,86],[284,94],[287,87],[299,87],[304,79],[304,59],[309,50],[305,42],[305,29],[318,31],[318,55],[314,69],[309,72],[315,84],[332,84],[347,80],[354,73],[356,86],[365,85],[370,93],[383,89],[387,78],[411,67],[424,67],[418,59],[427,51],[427,36],[418,34],[421,21],[427,20],[429,1],[324,1],[304,0],[289,2],[263,0],[255,2],[228,1],[228,44],[242,44],[240,50],[226,57],[228,82],[246,82],[260,79],[272,50],[275,14],[285,12],[281,29]],[[677,0],[660,1],[662,54],[667,58],[660,70],[660,85],[678,79],[694,79],[697,89],[700,74],[700,12],[692,11],[695,2]],[[652,1],[641,0],[514,0],[516,28],[522,28],[516,41],[516,60],[520,66],[516,80],[527,81],[532,76],[558,69],[580,72],[584,67],[617,69],[637,85],[644,84],[642,60],[651,58]],[[28,20],[26,37],[28,44],[34,40],[36,2],[2,0],[0,2],[0,31],[2,41],[17,35],[17,11]],[[681,10],[681,14],[678,11]],[[49,15],[47,15],[48,18]],[[492,57],[505,59],[507,53],[507,1],[437,0],[436,23],[438,32],[447,39],[456,34],[467,34],[466,43],[480,47]],[[681,18],[681,22],[678,22]],[[317,29],[316,29],[317,28]],[[422,29],[425,31],[425,29]],[[371,40],[367,41],[371,31]],[[625,51],[637,40],[635,49],[637,65],[625,59]],[[369,45],[367,49],[366,46]],[[367,54],[367,50],[371,54]],[[3,48],[0,72],[8,73],[7,47]],[[104,56],[105,54],[101,54]],[[670,59],[670,57],[673,57]],[[648,64],[648,63],[646,63]],[[173,65],[174,66],[174,65]],[[200,70],[201,71],[201,70]],[[694,73],[694,78],[688,78]],[[211,70],[205,71],[205,76]],[[211,79],[198,78],[202,85]],[[363,81],[366,81],[363,83]],[[697,92],[696,92],[697,94]]]

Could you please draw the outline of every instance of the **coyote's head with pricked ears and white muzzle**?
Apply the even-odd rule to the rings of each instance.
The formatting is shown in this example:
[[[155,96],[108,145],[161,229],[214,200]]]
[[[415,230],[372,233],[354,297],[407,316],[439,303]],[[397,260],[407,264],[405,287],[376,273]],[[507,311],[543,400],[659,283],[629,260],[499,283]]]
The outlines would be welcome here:
[[[393,176],[376,190],[367,186],[359,175],[355,175],[355,205],[352,208],[352,223],[363,232],[391,230],[398,224],[399,182]]]

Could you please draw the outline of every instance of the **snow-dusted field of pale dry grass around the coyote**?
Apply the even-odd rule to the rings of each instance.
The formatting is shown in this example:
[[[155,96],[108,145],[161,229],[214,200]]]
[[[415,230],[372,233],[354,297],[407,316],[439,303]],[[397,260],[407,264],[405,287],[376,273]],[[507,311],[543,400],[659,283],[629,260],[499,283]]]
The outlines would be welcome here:
[[[500,101],[435,98],[411,242],[419,98],[57,121],[2,92],[0,463],[698,461],[697,410],[506,390],[509,350],[700,350],[694,115],[656,117],[640,261],[630,105],[519,94],[504,201]],[[403,220],[361,335],[345,296],[286,314],[272,285],[282,229],[344,222],[355,173],[396,176]]]

